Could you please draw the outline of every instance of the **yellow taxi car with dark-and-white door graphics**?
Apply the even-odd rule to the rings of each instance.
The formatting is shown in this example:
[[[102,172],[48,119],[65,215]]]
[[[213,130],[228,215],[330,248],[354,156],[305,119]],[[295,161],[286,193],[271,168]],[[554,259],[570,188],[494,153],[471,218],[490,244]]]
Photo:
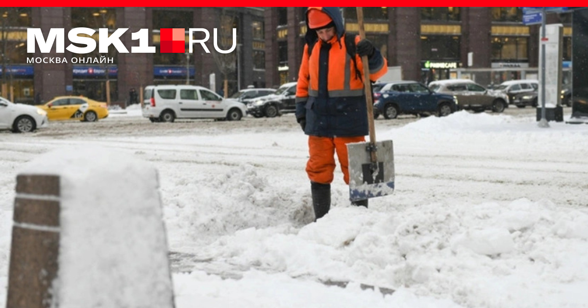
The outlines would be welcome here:
[[[106,103],[83,96],[58,96],[37,107],[47,111],[49,121],[80,120],[93,122],[108,117]]]

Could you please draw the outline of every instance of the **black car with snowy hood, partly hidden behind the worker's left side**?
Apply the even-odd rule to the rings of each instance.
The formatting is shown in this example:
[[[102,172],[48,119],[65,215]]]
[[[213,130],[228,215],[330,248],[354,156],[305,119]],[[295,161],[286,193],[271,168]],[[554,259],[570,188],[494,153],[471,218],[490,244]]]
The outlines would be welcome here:
[[[296,82],[282,84],[275,93],[258,97],[247,104],[247,112],[256,118],[275,117],[295,111]]]

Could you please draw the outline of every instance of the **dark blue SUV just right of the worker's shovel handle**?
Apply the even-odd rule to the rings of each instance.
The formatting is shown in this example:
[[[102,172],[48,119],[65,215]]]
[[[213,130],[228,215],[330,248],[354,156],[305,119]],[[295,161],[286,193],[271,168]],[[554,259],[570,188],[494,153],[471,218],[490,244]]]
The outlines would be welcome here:
[[[457,100],[452,95],[432,92],[412,81],[387,83],[374,93],[374,98],[375,118],[380,114],[386,119],[395,119],[399,114],[447,116],[457,110]]]

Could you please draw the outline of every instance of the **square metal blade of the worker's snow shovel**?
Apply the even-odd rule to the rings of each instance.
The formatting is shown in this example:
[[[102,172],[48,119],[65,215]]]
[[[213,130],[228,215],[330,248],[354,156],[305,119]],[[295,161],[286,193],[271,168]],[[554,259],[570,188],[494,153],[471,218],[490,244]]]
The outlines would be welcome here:
[[[372,164],[369,142],[349,143],[349,199],[358,201],[394,192],[392,140],[376,142],[376,164]]]

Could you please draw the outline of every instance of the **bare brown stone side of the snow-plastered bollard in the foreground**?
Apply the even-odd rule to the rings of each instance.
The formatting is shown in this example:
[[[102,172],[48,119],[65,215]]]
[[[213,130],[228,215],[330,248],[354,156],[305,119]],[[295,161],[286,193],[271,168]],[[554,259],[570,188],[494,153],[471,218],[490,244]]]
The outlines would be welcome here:
[[[6,308],[51,307],[58,270],[59,195],[56,175],[16,177]]]

